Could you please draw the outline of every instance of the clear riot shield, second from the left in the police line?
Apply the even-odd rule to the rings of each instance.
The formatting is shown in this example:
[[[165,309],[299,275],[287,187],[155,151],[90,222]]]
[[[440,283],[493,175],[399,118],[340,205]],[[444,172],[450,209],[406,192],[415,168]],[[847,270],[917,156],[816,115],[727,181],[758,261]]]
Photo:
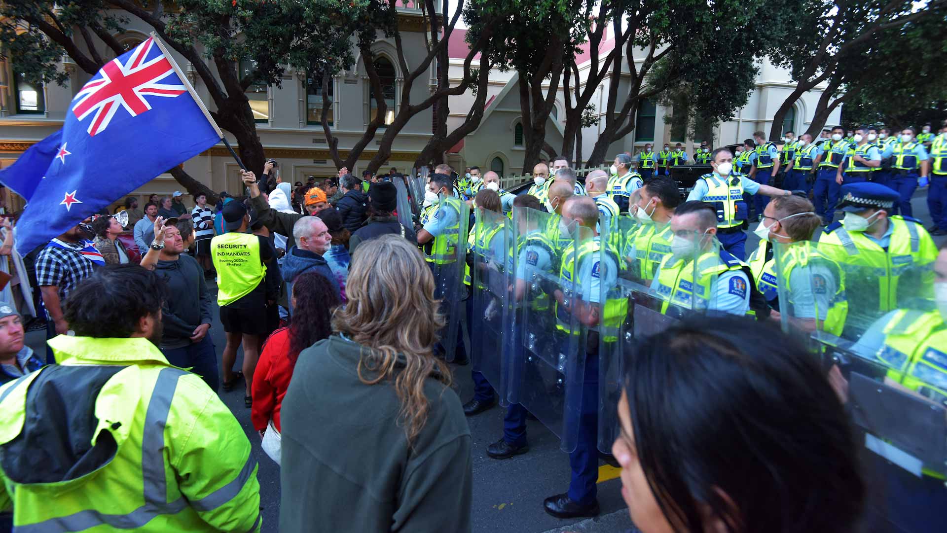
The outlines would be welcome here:
[[[507,404],[509,354],[513,335],[513,308],[510,306],[510,247],[512,222],[502,213],[476,210],[474,256],[471,272],[473,316],[469,316],[471,362],[474,370],[490,382],[500,403]]]

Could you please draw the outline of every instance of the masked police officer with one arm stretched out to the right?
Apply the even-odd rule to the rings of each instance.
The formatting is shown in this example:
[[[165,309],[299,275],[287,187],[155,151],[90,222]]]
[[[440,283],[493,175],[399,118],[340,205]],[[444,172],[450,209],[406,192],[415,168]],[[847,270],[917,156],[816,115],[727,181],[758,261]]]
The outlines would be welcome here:
[[[733,154],[725,148],[713,151],[710,167],[713,172],[697,179],[688,194],[688,201],[706,201],[717,210],[714,228],[717,239],[724,245],[724,250],[743,260],[746,258],[746,234],[743,233],[746,204],[743,202],[743,192],[766,196],[784,196],[792,192],[759,184],[742,174],[732,174]]]

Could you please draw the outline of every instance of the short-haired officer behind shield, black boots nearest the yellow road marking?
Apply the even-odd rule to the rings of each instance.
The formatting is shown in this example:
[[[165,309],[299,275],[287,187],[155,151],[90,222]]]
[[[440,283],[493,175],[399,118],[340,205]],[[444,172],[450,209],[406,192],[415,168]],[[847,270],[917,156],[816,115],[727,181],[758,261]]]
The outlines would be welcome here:
[[[602,250],[596,224],[599,222],[599,210],[595,203],[581,196],[574,196],[563,207],[563,219],[579,224],[578,250],[566,250],[560,266],[561,280],[575,280],[576,290],[580,294],[566,295],[556,290],[555,300],[557,319],[561,329],[571,329],[578,323],[580,329],[586,329],[585,368],[582,383],[581,406],[579,412],[579,433],[576,449],[569,453],[569,466],[572,478],[569,489],[545,499],[545,511],[557,518],[576,518],[599,514],[597,500],[599,478],[599,329],[602,317],[599,314],[599,298],[602,286],[614,286],[618,274],[618,258]],[[572,319],[571,317],[575,317]],[[581,331],[563,330],[565,334],[580,335]],[[582,349],[582,346],[580,346]],[[568,408],[575,410],[575,407]]]

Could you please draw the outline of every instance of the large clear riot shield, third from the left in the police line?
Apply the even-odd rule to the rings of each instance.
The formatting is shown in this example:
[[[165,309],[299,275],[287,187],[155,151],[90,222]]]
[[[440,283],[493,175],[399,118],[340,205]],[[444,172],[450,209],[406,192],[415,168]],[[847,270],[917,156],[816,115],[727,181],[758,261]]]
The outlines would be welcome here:
[[[574,275],[578,229],[558,215],[521,207],[513,209],[513,227],[515,316],[507,398],[557,435],[564,452],[572,452],[586,347],[578,318],[586,303]]]

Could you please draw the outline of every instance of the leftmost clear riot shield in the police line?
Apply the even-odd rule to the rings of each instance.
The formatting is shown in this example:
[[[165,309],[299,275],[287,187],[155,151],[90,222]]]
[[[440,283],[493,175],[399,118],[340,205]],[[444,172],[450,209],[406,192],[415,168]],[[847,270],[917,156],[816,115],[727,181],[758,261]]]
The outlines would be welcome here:
[[[455,360],[456,346],[462,346],[463,343],[460,338],[460,320],[464,309],[463,300],[467,295],[464,273],[469,216],[467,204],[450,196],[440,200],[434,215],[440,231],[431,245],[433,260],[428,265],[434,273],[434,296],[440,300],[440,311],[447,318],[447,324],[438,336],[444,359],[448,362]]]

